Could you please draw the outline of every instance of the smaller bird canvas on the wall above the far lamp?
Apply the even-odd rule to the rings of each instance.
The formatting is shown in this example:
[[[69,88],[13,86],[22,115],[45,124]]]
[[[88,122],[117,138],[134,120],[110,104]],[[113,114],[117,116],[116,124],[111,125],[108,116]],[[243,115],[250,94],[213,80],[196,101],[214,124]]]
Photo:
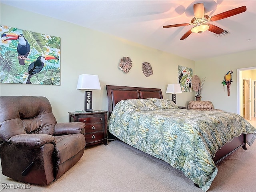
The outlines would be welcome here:
[[[178,84],[184,92],[192,92],[192,69],[184,66],[178,66]]]

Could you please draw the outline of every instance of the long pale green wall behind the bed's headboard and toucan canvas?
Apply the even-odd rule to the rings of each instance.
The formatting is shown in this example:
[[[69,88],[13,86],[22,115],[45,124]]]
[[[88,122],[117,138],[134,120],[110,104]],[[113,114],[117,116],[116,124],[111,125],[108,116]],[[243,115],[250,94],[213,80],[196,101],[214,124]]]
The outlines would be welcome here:
[[[76,90],[80,74],[99,76],[102,90],[93,91],[93,108],[108,110],[106,84],[161,88],[164,98],[167,84],[176,83],[178,65],[195,69],[195,62],[160,50],[96,32],[68,22],[0,4],[1,24],[49,34],[61,38],[60,86],[0,84],[0,95],[47,97],[58,122],[68,122],[68,112],[84,109],[84,90]],[[22,19],[20,19],[22,16]],[[78,48],[79,47],[79,48]],[[119,70],[120,59],[128,56],[133,66],[128,74]],[[142,62],[150,62],[154,74],[142,73]],[[177,94],[177,104],[185,106],[194,93]]]

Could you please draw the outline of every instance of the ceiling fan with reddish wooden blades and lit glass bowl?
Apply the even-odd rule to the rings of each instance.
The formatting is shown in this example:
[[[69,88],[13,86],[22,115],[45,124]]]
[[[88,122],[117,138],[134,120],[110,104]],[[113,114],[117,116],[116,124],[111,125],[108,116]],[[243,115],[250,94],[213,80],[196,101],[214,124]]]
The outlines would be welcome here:
[[[200,34],[204,31],[208,30],[208,31],[216,33],[216,34],[221,34],[222,32],[224,32],[224,30],[222,28],[219,28],[210,23],[207,24],[207,22],[221,20],[221,19],[231,17],[236,14],[240,14],[245,11],[246,11],[246,6],[242,6],[242,7],[228,10],[228,11],[222,12],[220,14],[209,17],[208,15],[204,14],[204,4],[197,3],[197,4],[194,4],[194,16],[195,17],[192,18],[190,23],[166,25],[166,26],[163,26],[163,28],[194,25],[194,27],[191,28],[190,30],[188,30],[188,32],[186,32],[182,36],[182,38],[180,38],[180,40],[186,39],[190,34],[192,34],[192,32]]]

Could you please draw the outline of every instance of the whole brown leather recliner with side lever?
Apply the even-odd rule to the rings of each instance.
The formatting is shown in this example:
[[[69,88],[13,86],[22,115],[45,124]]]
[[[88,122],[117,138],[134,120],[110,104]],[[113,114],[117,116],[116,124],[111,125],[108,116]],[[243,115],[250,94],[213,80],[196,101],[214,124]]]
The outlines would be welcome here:
[[[0,97],[1,164],[5,176],[47,185],[84,154],[85,124],[57,123],[49,100]]]

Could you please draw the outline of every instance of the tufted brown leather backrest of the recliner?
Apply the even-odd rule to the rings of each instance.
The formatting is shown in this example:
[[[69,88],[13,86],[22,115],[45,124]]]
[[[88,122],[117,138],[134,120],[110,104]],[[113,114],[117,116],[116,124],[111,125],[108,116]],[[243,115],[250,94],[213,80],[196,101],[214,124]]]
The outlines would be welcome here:
[[[43,133],[54,135],[56,118],[52,106],[45,97],[1,96],[0,139],[9,139],[18,134]]]

